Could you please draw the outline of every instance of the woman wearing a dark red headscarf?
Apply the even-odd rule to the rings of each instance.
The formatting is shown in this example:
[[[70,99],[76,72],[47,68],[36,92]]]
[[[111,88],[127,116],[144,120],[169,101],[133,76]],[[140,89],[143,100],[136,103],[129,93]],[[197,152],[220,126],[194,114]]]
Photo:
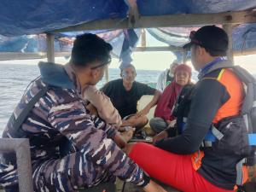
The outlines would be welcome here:
[[[172,108],[176,102],[177,96],[183,89],[183,86],[190,84],[191,68],[185,64],[178,65],[174,70],[174,80],[164,90],[154,111],[154,118],[150,119],[149,124],[155,133],[166,130],[167,127],[173,127],[175,117],[172,116]]]

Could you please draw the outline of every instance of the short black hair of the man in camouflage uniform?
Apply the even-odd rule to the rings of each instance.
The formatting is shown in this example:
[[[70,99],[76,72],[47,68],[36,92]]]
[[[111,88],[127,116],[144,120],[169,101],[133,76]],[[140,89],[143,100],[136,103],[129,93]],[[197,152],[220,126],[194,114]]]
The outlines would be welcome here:
[[[71,63],[74,66],[85,67],[93,61],[106,62],[110,60],[111,44],[105,42],[95,34],[84,33],[77,36],[73,43]]]

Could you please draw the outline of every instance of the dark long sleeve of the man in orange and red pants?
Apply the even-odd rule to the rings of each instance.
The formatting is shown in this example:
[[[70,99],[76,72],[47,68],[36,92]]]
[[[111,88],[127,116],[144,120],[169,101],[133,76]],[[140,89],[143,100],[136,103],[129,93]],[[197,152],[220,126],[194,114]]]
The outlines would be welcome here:
[[[230,96],[224,85],[215,79],[202,80],[194,94],[183,134],[160,140],[156,146],[176,154],[192,154],[199,150],[218,108]]]

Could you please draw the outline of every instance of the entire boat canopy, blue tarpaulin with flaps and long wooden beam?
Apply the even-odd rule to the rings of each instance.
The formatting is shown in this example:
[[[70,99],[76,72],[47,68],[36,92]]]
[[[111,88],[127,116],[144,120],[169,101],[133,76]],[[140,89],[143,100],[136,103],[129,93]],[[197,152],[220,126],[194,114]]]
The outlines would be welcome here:
[[[0,52],[45,52],[45,33],[55,51],[72,48],[76,35],[99,34],[113,55],[130,61],[142,28],[180,57],[189,32],[202,25],[229,25],[233,50],[256,50],[255,0],[2,0]]]

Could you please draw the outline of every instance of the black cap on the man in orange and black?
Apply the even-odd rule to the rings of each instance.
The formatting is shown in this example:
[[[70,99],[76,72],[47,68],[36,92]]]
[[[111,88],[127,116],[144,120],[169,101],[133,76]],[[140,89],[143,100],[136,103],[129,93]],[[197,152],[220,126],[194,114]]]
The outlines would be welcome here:
[[[183,45],[183,49],[190,49],[192,44],[197,44],[206,49],[225,52],[229,46],[227,33],[218,26],[203,26],[196,32],[190,32],[189,38],[189,44]]]

